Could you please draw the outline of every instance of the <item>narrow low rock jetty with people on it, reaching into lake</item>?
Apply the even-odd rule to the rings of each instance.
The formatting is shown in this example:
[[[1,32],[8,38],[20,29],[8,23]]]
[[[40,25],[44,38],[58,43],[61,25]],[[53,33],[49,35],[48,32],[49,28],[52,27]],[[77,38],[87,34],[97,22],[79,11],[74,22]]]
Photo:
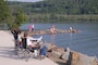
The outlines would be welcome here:
[[[50,29],[47,30],[33,30],[28,31],[29,35],[51,35],[51,34],[64,34],[64,32],[79,32],[79,30],[73,29],[73,30],[61,30],[61,29],[54,29],[51,31]]]

